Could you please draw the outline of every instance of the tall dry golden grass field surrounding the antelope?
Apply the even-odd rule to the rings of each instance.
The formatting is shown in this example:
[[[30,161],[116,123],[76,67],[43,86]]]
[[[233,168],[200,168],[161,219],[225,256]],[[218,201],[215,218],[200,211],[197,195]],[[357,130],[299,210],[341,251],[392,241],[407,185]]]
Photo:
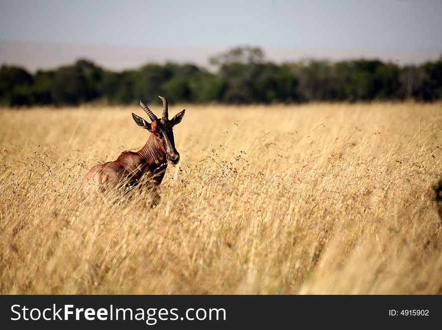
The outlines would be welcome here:
[[[185,107],[155,208],[81,190],[140,107],[0,110],[0,293],[442,293],[441,103]]]

